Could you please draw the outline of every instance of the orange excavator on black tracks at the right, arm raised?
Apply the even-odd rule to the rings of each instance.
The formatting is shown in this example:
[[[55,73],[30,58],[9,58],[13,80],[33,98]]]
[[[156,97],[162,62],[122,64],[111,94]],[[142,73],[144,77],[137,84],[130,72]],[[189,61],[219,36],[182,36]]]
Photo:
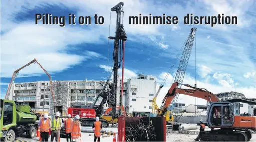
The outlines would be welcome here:
[[[251,139],[250,130],[256,130],[255,116],[235,116],[230,102],[220,102],[216,95],[207,91],[182,84],[191,89],[178,88],[174,82],[163,99],[162,106],[157,110],[157,117],[163,117],[176,94],[197,97],[210,102],[207,112],[207,126],[211,131],[199,133],[200,141],[210,142],[247,142]]]

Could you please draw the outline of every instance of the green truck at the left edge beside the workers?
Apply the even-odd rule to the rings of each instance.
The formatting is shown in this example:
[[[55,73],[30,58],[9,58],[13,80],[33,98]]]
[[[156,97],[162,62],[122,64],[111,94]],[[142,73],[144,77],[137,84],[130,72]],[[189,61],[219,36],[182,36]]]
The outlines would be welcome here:
[[[12,142],[16,137],[26,133],[29,138],[37,135],[40,115],[32,112],[30,106],[17,106],[15,101],[1,99],[1,131],[2,141]]]

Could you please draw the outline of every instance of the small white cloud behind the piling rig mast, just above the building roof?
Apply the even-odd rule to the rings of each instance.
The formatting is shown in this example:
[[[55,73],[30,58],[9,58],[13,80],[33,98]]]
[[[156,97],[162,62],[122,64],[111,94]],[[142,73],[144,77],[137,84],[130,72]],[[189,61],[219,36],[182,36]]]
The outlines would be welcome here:
[[[109,71],[109,73],[112,72],[112,68],[113,68],[112,66],[108,67],[106,65],[99,65],[99,67],[103,68],[106,72]],[[118,74],[121,77],[121,75],[122,75],[122,68],[118,69]],[[124,81],[126,81],[126,79],[129,79],[129,78],[132,78],[132,77],[137,77],[136,72],[124,68]]]

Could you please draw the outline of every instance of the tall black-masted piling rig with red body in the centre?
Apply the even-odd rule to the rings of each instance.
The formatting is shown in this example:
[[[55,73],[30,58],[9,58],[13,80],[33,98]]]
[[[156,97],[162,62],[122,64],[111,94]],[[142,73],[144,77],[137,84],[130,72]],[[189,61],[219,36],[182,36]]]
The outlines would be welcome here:
[[[117,91],[119,91],[119,87],[117,86],[118,83],[118,69],[121,67],[121,62],[122,62],[122,56],[123,56],[123,49],[124,49],[124,41],[127,40],[127,36],[124,30],[124,26],[121,23],[121,13],[124,13],[123,11],[123,2],[119,2],[117,5],[111,8],[111,11],[116,11],[117,14],[117,19],[116,19],[116,32],[115,36],[109,36],[109,39],[114,39],[114,51],[113,51],[113,61],[114,61],[114,67],[112,69],[113,73],[113,82],[110,83],[110,77],[108,78],[107,82],[105,83],[104,88],[102,91],[99,93],[99,95],[96,97],[94,103],[93,103],[93,108],[90,110],[87,109],[83,112],[82,108],[80,110],[76,108],[76,112],[78,115],[81,117],[81,122],[84,126],[91,126],[93,122],[95,121],[95,117],[101,118],[103,114],[103,107],[104,104],[110,105],[112,107],[112,120],[117,119],[118,116],[121,114],[121,109],[119,110],[118,113],[116,113],[116,106],[119,106],[121,108],[121,102],[122,102],[122,97],[120,95],[120,103],[117,104]],[[112,74],[111,73],[111,74]],[[109,91],[106,91],[106,87],[109,84]],[[96,105],[97,101],[99,98],[102,98],[101,103],[99,105]],[[72,111],[74,108],[69,108],[68,112],[74,114]],[[83,115],[86,114],[86,115]],[[88,117],[89,115],[91,117]],[[94,115],[91,115],[94,114]],[[85,116],[85,117],[84,117]],[[107,123],[107,126],[109,125],[108,122],[111,122],[101,119],[103,123]]]

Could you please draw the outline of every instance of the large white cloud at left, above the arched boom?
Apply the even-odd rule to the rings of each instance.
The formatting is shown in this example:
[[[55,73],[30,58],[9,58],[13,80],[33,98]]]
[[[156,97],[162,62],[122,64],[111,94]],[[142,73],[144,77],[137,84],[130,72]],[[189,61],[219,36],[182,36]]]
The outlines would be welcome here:
[[[1,71],[1,76],[12,77],[12,72],[34,58],[49,73],[63,71],[91,58],[105,58],[92,51],[86,51],[80,55],[66,53],[70,44],[98,41],[99,36],[90,35],[95,31],[97,30],[22,23],[1,35],[1,67],[4,68]],[[31,65],[21,70],[19,77],[26,74],[34,76],[42,73],[44,74],[44,71],[39,66]]]

